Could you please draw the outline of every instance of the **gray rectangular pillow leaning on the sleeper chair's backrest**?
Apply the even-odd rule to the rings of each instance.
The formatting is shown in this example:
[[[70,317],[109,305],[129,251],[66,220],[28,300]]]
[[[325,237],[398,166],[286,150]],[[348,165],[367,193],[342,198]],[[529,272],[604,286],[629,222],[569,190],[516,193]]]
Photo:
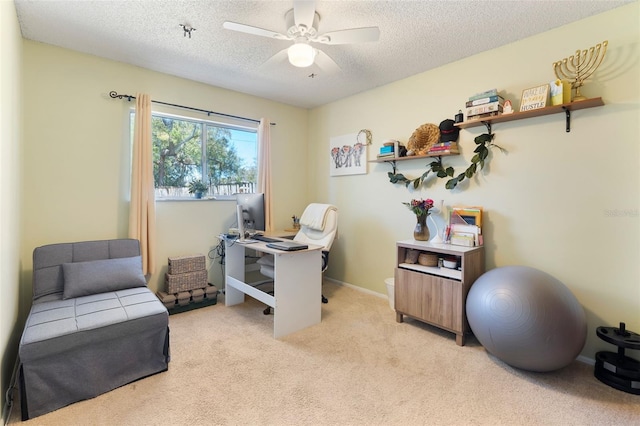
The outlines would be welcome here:
[[[63,263],[63,299],[145,287],[140,256]]]

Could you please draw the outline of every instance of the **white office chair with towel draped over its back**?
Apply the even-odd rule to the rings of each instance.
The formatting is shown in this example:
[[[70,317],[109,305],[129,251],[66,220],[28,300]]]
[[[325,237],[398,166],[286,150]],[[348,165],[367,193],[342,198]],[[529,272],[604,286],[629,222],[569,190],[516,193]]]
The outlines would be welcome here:
[[[300,230],[293,237],[294,241],[305,244],[322,246],[322,272],[329,266],[329,250],[338,231],[338,209],[331,204],[312,203],[304,209],[300,217]],[[274,278],[273,255],[266,254],[258,259],[260,273],[271,279]],[[322,303],[328,300],[322,296]],[[271,308],[267,307],[264,313],[269,314]]]

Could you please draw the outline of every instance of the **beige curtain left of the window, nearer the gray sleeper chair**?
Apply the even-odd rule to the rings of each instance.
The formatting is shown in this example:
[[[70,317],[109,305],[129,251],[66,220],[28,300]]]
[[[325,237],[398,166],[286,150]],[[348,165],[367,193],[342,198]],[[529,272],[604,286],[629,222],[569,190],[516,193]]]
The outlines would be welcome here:
[[[131,167],[131,207],[129,237],[140,240],[142,271],[155,270],[156,206],[153,187],[153,149],[151,146],[151,97],[136,95]]]

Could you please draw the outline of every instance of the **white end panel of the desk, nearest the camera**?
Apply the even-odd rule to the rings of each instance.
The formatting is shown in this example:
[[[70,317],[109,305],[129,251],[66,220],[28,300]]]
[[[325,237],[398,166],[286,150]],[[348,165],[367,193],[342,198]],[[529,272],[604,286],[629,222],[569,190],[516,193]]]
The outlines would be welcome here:
[[[274,263],[273,337],[282,337],[320,323],[320,250],[276,254]]]

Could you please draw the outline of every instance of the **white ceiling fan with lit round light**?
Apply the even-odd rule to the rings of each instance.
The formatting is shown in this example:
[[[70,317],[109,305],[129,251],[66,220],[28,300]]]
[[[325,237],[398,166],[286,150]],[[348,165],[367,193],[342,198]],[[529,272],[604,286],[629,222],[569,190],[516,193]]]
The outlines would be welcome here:
[[[288,57],[289,62],[296,67],[309,67],[315,63],[327,71],[335,71],[340,68],[329,55],[315,49],[310,43],[327,45],[366,43],[378,41],[380,37],[378,27],[351,28],[319,34],[320,15],[316,12],[315,1],[294,0],[293,9],[285,14],[285,22],[287,25],[285,34],[229,21],[225,22],[223,27],[228,30],[294,42],[288,48],[276,53],[268,62]]]

